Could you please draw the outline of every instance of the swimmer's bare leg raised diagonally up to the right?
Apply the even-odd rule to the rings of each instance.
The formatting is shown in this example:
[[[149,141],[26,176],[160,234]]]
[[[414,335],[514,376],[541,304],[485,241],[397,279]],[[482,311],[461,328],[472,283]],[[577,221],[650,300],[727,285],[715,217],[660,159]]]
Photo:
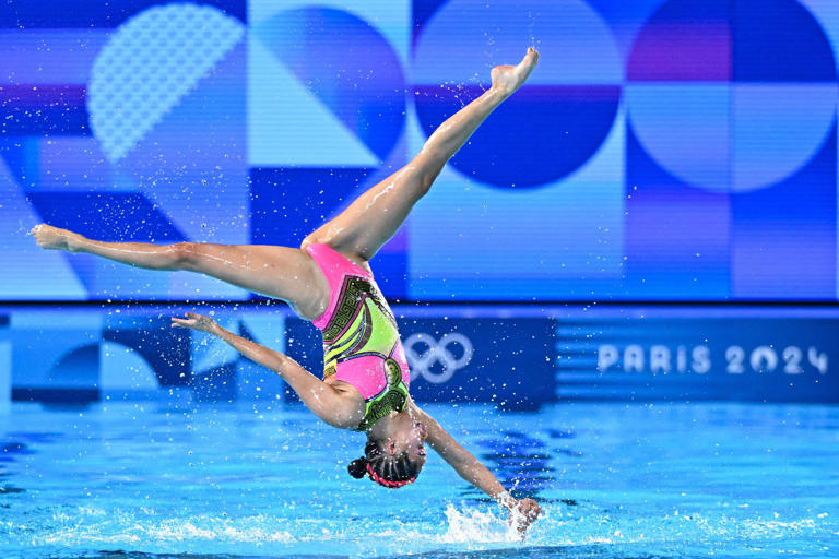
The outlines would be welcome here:
[[[537,60],[539,53],[529,48],[518,66],[494,68],[489,90],[440,124],[411,163],[306,237],[303,246],[326,242],[344,254],[370,260],[428,192],[446,163],[489,114],[524,83]]]

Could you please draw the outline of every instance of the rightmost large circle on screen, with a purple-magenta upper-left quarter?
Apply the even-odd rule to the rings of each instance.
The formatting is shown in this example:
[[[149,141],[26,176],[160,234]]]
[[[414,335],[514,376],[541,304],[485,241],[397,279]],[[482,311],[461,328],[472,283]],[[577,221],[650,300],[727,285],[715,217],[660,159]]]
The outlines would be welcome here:
[[[671,0],[627,63],[629,124],[667,173],[711,191],[790,177],[829,136],[836,66],[793,0]]]

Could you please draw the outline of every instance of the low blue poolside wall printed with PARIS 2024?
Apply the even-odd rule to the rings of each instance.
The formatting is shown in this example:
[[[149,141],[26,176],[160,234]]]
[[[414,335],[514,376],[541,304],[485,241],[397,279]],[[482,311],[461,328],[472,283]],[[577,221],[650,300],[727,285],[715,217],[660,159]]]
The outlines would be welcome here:
[[[228,330],[317,373],[318,332],[265,305],[0,307],[8,402],[294,401],[283,381],[169,317]],[[839,310],[829,307],[394,306],[421,402],[839,402]],[[11,390],[9,390],[11,389]]]

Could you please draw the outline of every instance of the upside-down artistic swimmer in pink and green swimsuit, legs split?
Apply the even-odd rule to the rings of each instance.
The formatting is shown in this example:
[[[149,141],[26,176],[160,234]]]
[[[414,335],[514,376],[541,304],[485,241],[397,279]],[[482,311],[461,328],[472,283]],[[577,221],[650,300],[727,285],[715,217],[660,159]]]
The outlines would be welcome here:
[[[188,270],[285,300],[323,335],[323,379],[289,357],[245,340],[210,317],[187,313],[173,326],[214,334],[246,357],[276,371],[320,419],[364,431],[364,456],[353,477],[391,489],[416,480],[427,442],[466,481],[482,489],[524,528],[542,512],[532,499],[517,500],[409,394],[410,374],[393,312],[379,292],[369,260],[425,195],[446,163],[477,127],[524,83],[539,53],[529,48],[518,66],[492,70],[492,86],[446,120],[405,167],[356,199],[338,217],[306,237],[299,249],[179,242],[91,240],[46,224],[33,229],[46,249],[86,252],[150,270]]]

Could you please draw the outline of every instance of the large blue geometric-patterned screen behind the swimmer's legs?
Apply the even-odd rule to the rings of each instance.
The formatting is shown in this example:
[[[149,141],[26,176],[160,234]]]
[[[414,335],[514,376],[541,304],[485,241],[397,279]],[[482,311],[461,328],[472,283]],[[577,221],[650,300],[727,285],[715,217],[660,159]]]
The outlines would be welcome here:
[[[297,246],[528,45],[388,297],[837,299],[831,0],[3,2],[0,299],[247,299],[26,231]]]

